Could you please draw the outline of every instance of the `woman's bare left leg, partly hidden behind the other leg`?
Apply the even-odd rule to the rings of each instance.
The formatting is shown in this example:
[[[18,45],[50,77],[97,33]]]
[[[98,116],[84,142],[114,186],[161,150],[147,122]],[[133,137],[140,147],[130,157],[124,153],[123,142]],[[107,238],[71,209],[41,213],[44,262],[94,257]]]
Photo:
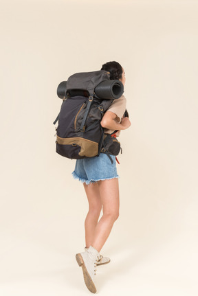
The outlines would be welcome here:
[[[102,209],[102,203],[100,198],[100,191],[98,182],[87,185],[83,183],[87,199],[89,202],[89,212],[85,219],[85,243],[86,247],[92,246],[96,225],[98,224],[98,218]]]

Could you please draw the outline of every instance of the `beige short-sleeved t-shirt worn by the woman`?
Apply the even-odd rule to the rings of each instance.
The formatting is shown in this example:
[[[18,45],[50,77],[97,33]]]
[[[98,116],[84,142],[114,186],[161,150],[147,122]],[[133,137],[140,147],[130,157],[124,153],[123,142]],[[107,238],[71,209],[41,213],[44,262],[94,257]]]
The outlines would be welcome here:
[[[117,115],[115,120],[117,120],[119,123],[121,122],[122,116],[124,115],[124,112],[126,110],[126,98],[124,95],[122,95],[119,99],[115,99],[109,109],[107,111],[111,111]],[[104,128],[104,133],[111,134],[114,130],[108,130],[107,128]],[[116,133],[116,135],[120,135],[120,132]]]

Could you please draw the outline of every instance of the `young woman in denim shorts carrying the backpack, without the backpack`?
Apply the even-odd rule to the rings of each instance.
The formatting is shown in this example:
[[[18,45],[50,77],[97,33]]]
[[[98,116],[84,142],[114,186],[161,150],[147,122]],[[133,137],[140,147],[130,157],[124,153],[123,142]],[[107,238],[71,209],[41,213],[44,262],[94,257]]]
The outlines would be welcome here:
[[[118,79],[125,83],[124,69],[118,62],[107,62],[102,69],[110,72],[110,79]],[[126,99],[122,95],[114,100],[102,117],[101,126],[104,133],[113,133],[114,130],[125,130],[131,122],[128,117],[122,117],[126,110]],[[110,262],[109,258],[100,255],[104,242],[106,242],[113,223],[119,215],[119,187],[115,156],[111,155],[113,164],[106,154],[99,157],[78,159],[72,173],[75,179],[83,181],[89,202],[89,212],[85,219],[85,252],[76,254],[79,266],[83,268],[84,280],[87,288],[96,293],[94,275],[96,265]],[[102,217],[98,221],[102,209]]]

